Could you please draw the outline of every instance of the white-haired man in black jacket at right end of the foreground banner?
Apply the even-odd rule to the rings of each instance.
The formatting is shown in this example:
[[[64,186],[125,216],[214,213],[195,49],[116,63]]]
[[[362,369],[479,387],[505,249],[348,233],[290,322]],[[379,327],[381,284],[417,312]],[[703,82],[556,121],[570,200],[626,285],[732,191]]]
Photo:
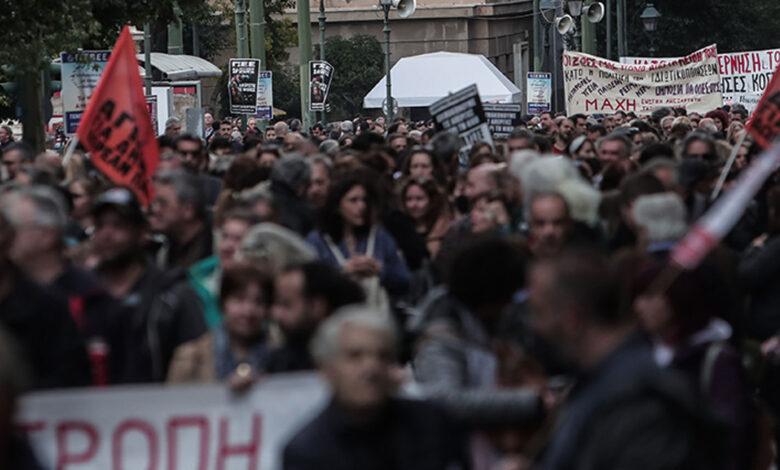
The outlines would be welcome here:
[[[437,406],[393,397],[396,332],[368,307],[325,320],[312,341],[328,407],[287,444],[285,470],[463,469],[467,444]]]

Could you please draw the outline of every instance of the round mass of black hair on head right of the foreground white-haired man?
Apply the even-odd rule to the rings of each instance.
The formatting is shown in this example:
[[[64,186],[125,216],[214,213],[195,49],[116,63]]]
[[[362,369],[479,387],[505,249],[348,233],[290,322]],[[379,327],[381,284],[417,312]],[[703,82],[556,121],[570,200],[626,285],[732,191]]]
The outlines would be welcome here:
[[[447,268],[450,294],[472,311],[509,303],[525,284],[525,256],[518,246],[496,235],[468,240]]]

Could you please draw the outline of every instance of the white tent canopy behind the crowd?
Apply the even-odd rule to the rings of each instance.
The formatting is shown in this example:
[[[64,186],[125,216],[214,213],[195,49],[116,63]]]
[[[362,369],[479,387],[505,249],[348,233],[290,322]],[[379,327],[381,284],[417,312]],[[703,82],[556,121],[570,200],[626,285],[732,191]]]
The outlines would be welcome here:
[[[521,91],[485,56],[434,52],[404,57],[390,69],[393,98],[401,108],[427,107],[472,83],[487,103],[521,103]],[[363,99],[365,108],[381,108],[387,96],[385,77]]]

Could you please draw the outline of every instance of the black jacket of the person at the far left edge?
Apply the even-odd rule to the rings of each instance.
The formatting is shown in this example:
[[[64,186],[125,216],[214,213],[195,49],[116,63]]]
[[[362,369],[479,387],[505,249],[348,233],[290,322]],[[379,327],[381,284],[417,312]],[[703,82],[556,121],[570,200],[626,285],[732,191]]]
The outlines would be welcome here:
[[[16,339],[34,388],[89,384],[89,362],[65,299],[12,268],[11,292],[0,299],[0,325]]]

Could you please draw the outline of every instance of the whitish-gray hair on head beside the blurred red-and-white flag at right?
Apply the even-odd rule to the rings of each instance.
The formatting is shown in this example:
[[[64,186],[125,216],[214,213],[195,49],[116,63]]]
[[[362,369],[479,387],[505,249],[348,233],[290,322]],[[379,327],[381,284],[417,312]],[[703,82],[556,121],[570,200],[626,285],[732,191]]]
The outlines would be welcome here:
[[[674,242],[688,231],[685,204],[675,193],[640,196],[631,215],[634,222],[647,231],[648,243]]]

